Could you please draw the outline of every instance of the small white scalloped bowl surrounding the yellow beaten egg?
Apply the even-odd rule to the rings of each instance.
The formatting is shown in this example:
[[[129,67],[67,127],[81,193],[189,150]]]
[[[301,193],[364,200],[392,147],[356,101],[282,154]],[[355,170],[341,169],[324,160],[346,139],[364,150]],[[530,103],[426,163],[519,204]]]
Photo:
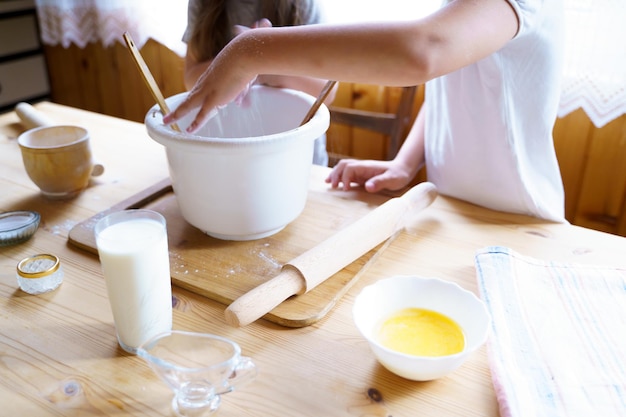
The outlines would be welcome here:
[[[380,322],[404,308],[423,308],[454,320],[465,334],[465,349],[454,355],[427,357],[400,353],[376,341]],[[401,377],[428,381],[457,369],[487,339],[487,308],[473,293],[437,278],[395,276],[369,285],[357,296],[353,317],[378,361]]]

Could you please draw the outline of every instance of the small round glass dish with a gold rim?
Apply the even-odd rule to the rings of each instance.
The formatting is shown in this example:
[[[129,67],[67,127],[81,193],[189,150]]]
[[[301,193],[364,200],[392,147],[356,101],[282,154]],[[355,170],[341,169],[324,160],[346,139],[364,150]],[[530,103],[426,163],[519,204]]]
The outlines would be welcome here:
[[[17,283],[22,291],[42,294],[63,282],[61,261],[54,255],[41,254],[24,258],[17,264]]]

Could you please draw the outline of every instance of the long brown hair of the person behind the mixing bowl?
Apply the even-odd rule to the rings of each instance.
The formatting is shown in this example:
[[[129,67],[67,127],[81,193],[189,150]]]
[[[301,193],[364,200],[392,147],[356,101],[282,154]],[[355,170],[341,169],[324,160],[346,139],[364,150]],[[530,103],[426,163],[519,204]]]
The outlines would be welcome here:
[[[202,7],[189,39],[188,47],[197,61],[214,58],[235,34],[234,25],[254,22],[231,22],[229,0],[201,0]],[[259,0],[254,21],[269,19],[273,26],[296,26],[311,23],[311,0]]]

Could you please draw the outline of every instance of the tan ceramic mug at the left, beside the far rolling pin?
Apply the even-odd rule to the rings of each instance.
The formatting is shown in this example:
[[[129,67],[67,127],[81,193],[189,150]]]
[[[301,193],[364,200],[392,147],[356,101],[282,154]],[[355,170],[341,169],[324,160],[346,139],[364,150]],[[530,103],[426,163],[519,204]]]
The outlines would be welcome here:
[[[28,176],[46,197],[74,197],[91,176],[103,171],[93,161],[89,133],[82,127],[38,127],[22,133],[17,142]]]

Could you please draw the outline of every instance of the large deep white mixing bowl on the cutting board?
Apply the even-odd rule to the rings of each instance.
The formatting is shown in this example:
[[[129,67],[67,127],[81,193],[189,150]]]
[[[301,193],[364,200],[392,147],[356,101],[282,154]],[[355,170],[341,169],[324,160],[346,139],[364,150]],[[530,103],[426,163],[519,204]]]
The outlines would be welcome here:
[[[176,108],[187,93],[168,98]],[[225,240],[270,236],[304,209],[316,138],[330,123],[326,106],[304,126],[315,101],[299,91],[255,86],[241,105],[219,110],[196,134],[163,125],[154,106],[145,124],[166,148],[174,194],[183,218]]]

